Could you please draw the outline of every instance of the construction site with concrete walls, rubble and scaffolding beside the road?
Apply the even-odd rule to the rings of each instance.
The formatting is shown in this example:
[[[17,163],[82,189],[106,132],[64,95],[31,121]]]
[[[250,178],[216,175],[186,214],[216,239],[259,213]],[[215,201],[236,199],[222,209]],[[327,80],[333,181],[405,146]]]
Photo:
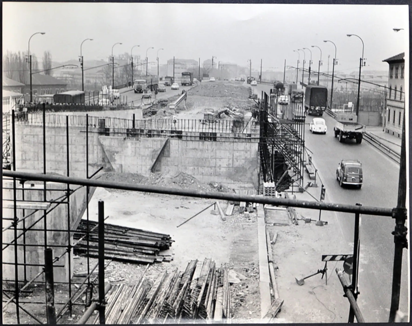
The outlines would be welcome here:
[[[377,295],[391,298],[390,321],[404,320],[405,132],[398,207],[328,203],[303,99],[279,105],[279,91],[225,81],[139,113],[13,110],[3,323],[368,322],[360,215],[394,222],[393,292]],[[340,212],[354,217],[351,244]]]

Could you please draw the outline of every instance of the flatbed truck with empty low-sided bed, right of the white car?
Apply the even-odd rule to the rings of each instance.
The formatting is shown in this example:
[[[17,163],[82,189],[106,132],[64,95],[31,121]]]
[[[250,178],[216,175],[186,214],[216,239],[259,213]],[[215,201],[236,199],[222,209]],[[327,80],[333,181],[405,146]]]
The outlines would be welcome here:
[[[336,124],[333,127],[335,138],[339,137],[339,142],[343,143],[344,139],[355,139],[356,144],[361,144],[366,126],[358,123],[356,114],[337,114]]]

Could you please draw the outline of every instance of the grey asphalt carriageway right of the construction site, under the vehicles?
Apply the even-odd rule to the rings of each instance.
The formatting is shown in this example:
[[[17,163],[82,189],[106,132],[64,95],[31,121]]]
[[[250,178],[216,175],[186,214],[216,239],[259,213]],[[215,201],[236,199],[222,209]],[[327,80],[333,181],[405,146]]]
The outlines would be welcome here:
[[[258,85],[259,93],[269,94],[271,85]],[[363,206],[396,207],[398,196],[399,165],[367,142],[356,144],[353,140],[339,143],[333,135],[335,120],[323,115],[328,126],[326,135],[311,134],[307,116],[305,146],[313,152],[313,161],[328,193],[328,201]],[[336,168],[342,158],[358,159],[363,163],[361,189],[341,188],[336,180]],[[353,246],[354,214],[337,213],[346,243]],[[342,217],[342,218],[340,218]],[[367,322],[387,322],[391,306],[392,269],[395,221],[390,217],[361,216],[361,249],[358,303]],[[333,241],[333,239],[331,239]],[[407,250],[403,254],[400,310],[408,312]],[[340,295],[337,293],[337,295]]]

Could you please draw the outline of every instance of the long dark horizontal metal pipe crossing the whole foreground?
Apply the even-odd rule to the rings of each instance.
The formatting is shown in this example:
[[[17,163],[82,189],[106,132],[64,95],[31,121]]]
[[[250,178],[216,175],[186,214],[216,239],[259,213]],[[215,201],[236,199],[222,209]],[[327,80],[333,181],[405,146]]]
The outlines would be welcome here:
[[[16,177],[16,178],[22,178],[26,180],[61,182],[61,183],[69,183],[69,184],[78,184],[78,185],[89,186],[89,187],[102,187],[102,188],[112,188],[112,189],[121,189],[121,190],[150,192],[150,193],[155,193],[155,194],[169,194],[169,195],[188,196],[188,197],[197,197],[197,198],[221,199],[221,200],[227,200],[227,201],[246,201],[250,203],[261,203],[261,204],[269,204],[269,205],[275,205],[275,206],[313,208],[317,210],[322,209],[322,210],[330,210],[330,211],[335,211],[335,212],[360,213],[360,214],[392,217],[392,208],[356,206],[356,205],[349,205],[349,204],[335,204],[335,203],[324,203],[324,202],[314,202],[314,201],[302,201],[302,200],[296,200],[296,199],[272,198],[272,197],[260,196],[260,195],[236,195],[236,194],[227,194],[227,193],[211,192],[211,191],[197,191],[197,190],[176,189],[176,188],[169,188],[169,187],[149,186],[149,185],[143,185],[143,184],[128,184],[125,182],[87,180],[87,179],[75,178],[75,177],[63,177],[63,176],[58,176],[58,175],[43,175],[43,174],[38,174],[38,173],[15,172],[15,171],[9,171],[9,170],[3,171],[3,175],[7,177]]]

